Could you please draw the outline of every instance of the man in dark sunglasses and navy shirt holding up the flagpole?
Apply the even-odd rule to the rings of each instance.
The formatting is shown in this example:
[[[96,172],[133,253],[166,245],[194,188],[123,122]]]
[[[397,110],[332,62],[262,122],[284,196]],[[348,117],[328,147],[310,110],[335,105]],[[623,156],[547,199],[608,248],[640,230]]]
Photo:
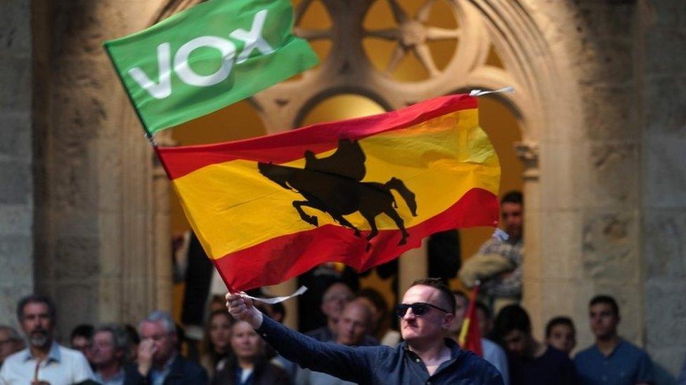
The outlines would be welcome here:
[[[436,278],[415,281],[396,306],[401,342],[352,347],[325,344],[288,329],[254,308],[241,294],[227,294],[226,307],[245,320],[285,358],[357,384],[493,384],[503,378],[493,365],[446,338],[455,298]]]

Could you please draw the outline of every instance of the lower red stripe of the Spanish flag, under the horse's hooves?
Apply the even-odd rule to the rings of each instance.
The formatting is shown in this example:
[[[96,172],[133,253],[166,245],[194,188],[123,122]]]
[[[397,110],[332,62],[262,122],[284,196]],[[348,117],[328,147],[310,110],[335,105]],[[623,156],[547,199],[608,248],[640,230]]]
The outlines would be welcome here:
[[[272,238],[213,262],[227,285],[250,290],[276,285],[324,262],[344,262],[357,271],[365,271],[418,247],[422,238],[436,231],[486,224],[498,224],[498,197],[491,191],[474,188],[444,212],[410,227],[406,245],[396,246],[401,239],[399,230],[382,230],[367,252],[364,238],[354,236],[351,229],[328,224]],[[363,231],[362,235],[367,234]]]

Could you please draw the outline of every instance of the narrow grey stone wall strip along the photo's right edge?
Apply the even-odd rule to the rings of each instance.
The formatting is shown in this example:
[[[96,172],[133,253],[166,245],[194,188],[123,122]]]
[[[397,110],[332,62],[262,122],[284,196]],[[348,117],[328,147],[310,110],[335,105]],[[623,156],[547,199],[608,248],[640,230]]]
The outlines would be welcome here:
[[[686,359],[686,2],[639,4],[645,341],[675,373]]]

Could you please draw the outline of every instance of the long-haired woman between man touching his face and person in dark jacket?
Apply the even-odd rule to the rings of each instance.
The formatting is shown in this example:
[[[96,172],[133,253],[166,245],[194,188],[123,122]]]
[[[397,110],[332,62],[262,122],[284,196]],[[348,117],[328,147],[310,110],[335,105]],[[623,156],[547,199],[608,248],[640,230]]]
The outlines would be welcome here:
[[[223,310],[213,311],[205,325],[205,335],[200,345],[200,365],[209,377],[214,376],[221,360],[231,356],[231,325],[233,317]]]

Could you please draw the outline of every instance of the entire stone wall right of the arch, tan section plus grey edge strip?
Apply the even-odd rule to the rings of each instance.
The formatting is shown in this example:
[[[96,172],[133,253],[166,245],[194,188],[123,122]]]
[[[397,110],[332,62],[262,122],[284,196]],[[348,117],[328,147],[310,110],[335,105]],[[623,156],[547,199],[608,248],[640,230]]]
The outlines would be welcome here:
[[[539,137],[525,266],[535,330],[569,314],[588,346],[588,300],[613,295],[620,334],[670,383],[686,351],[686,4],[528,4],[559,66],[555,103],[578,116]]]

